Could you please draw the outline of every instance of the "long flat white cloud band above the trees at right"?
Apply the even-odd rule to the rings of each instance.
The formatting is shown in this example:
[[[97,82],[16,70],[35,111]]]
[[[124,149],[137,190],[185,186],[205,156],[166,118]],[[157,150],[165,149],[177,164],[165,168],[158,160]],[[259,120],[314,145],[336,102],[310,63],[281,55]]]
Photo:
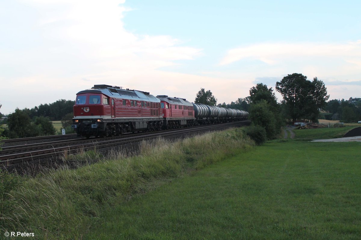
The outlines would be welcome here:
[[[231,49],[219,63],[227,65],[241,59],[255,59],[276,64],[299,57],[341,57],[347,62],[360,64],[361,40],[345,44],[331,43],[261,43]]]

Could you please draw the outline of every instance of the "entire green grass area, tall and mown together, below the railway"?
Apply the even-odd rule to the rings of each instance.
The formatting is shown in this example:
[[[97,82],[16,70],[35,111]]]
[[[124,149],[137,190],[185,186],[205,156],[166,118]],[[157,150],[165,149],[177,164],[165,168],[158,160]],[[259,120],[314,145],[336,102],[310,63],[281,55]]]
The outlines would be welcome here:
[[[305,138],[330,135],[314,130]],[[38,239],[361,239],[360,148],[254,147],[237,128],[143,142],[131,158],[91,151],[96,164],[25,179],[0,228]]]

